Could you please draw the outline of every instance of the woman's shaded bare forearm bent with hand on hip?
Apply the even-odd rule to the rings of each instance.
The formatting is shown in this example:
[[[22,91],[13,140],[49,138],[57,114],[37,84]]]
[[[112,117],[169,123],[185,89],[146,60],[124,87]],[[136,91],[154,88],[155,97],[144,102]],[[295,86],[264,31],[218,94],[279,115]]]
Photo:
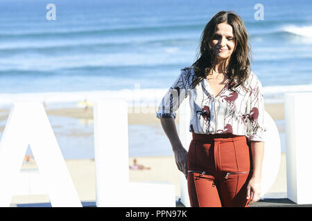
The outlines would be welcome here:
[[[175,119],[162,117],[160,118],[160,122],[171,143],[177,169],[179,169],[179,171],[184,173],[185,177],[187,177],[187,150],[182,146],[179,135],[177,134]]]

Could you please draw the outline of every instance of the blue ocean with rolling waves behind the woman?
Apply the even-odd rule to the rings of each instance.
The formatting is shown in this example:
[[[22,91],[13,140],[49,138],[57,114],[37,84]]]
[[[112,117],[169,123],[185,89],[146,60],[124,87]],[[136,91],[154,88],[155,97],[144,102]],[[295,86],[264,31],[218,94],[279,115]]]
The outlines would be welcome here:
[[[49,3],[55,20],[47,19]],[[258,3],[263,19],[256,19]],[[138,88],[140,99],[158,105],[180,68],[195,61],[202,30],[220,10],[232,10],[245,22],[252,71],[266,102],[283,102],[287,92],[312,91],[310,0],[1,0],[0,106],[21,100],[76,106],[84,99],[126,97]],[[60,121],[55,117],[51,124]],[[87,130],[91,133],[92,124]],[[144,126],[129,129],[130,155],[163,154],[153,146],[133,151],[144,146],[139,143],[144,131]],[[163,142],[155,146],[169,144],[164,133],[159,136]],[[81,144],[59,139],[66,150],[71,148],[62,146]],[[84,145],[92,150],[92,136],[88,139]],[[169,146],[164,152],[170,151]],[[65,152],[67,158],[92,157],[87,151]]]

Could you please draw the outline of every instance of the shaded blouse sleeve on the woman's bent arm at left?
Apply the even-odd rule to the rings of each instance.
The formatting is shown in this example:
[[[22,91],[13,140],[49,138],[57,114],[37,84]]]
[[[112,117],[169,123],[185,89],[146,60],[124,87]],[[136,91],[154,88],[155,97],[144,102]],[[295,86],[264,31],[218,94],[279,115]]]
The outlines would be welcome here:
[[[162,98],[161,104],[159,104],[156,117],[160,118],[175,118],[176,111],[180,104],[187,97],[187,86],[186,86],[186,71],[181,69],[180,75],[169,88],[168,92]]]

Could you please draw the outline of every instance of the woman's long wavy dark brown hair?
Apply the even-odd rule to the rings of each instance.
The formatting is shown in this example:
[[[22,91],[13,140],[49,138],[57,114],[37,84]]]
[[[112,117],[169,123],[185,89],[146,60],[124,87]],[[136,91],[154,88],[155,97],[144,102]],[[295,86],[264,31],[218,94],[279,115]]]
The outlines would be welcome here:
[[[211,68],[214,66],[216,56],[212,49],[212,40],[217,25],[223,22],[232,26],[235,41],[234,52],[229,59],[227,67],[224,69],[227,77],[229,77],[229,89],[234,89],[238,86],[243,86],[243,88],[245,88],[244,82],[250,73],[251,60],[248,32],[241,17],[232,11],[218,12],[205,26],[200,37],[200,48],[196,58],[197,60],[193,63],[195,76],[191,87],[195,87],[203,78],[207,77]]]

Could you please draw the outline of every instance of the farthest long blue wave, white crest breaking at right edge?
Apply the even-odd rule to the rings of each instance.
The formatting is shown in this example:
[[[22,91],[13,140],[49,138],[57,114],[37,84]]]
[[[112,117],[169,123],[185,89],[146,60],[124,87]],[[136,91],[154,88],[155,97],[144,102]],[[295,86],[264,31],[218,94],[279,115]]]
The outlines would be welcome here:
[[[0,50],[21,52],[21,50],[64,50],[93,48],[125,48],[144,45],[166,46],[198,44],[203,24],[187,23],[159,26],[139,26],[121,28],[80,28],[68,30],[24,30],[20,32],[0,32]],[[250,36],[255,38],[297,35],[312,38],[312,26],[295,24],[268,23],[267,26],[252,24]],[[124,36],[128,37],[124,37]],[[44,40],[43,40],[44,39]],[[5,43],[5,44],[4,44]]]

